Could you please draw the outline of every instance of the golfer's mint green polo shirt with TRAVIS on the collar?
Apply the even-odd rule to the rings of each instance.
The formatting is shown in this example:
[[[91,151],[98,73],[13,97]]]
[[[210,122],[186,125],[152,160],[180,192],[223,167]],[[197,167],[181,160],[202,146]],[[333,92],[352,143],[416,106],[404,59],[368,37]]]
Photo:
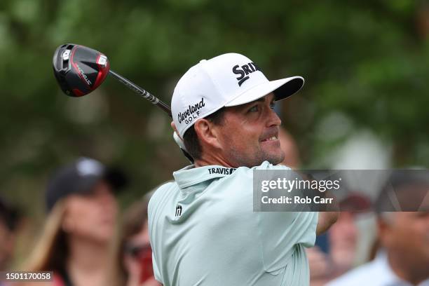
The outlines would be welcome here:
[[[253,212],[253,170],[192,165],[149,202],[155,278],[164,286],[309,285],[304,247],[317,212]]]

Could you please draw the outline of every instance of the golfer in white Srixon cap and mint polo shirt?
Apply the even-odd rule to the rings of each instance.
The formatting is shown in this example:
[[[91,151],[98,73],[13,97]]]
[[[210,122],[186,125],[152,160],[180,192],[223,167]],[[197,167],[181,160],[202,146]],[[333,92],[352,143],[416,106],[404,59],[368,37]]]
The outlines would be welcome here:
[[[202,60],[172,95],[172,127],[194,159],[149,203],[156,280],[170,285],[308,285],[304,247],[336,212],[253,212],[253,170],[276,165],[280,118],[273,103],[304,79],[268,81],[257,64],[228,53]]]

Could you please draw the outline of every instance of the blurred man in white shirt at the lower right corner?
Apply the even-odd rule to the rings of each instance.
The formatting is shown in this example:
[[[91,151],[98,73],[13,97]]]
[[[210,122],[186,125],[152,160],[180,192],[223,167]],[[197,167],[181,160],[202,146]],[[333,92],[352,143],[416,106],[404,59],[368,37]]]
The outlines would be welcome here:
[[[427,172],[427,171],[426,171]],[[328,285],[429,285],[429,181],[412,172],[393,172],[376,203],[381,249],[374,261],[333,280]],[[393,190],[393,191],[392,191]],[[395,203],[406,207],[411,202],[426,207],[421,212],[386,212]],[[421,205],[426,203],[425,205]]]

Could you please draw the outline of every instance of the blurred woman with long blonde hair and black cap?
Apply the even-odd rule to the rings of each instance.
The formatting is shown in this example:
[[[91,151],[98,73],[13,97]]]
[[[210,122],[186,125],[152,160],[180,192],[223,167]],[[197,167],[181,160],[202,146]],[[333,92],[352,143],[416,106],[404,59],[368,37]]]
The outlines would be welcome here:
[[[26,270],[54,271],[54,286],[120,285],[109,275],[119,267],[111,259],[114,191],[124,185],[120,173],[90,158],[57,170],[46,191],[46,225]]]

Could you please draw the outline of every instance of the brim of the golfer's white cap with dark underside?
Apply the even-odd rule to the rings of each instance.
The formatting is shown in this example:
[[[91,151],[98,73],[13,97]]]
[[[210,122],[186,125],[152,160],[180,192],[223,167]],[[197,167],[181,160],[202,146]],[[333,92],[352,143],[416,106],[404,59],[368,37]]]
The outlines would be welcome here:
[[[250,88],[245,91],[242,95],[234,98],[230,102],[225,104],[225,107],[236,107],[237,105],[246,104],[254,100],[258,100],[261,97],[268,95],[268,93],[274,93],[275,100],[283,100],[286,97],[290,97],[294,93],[297,93],[304,86],[304,78],[301,76],[292,76],[286,79],[278,79],[276,81],[268,81],[262,83],[259,86]]]

